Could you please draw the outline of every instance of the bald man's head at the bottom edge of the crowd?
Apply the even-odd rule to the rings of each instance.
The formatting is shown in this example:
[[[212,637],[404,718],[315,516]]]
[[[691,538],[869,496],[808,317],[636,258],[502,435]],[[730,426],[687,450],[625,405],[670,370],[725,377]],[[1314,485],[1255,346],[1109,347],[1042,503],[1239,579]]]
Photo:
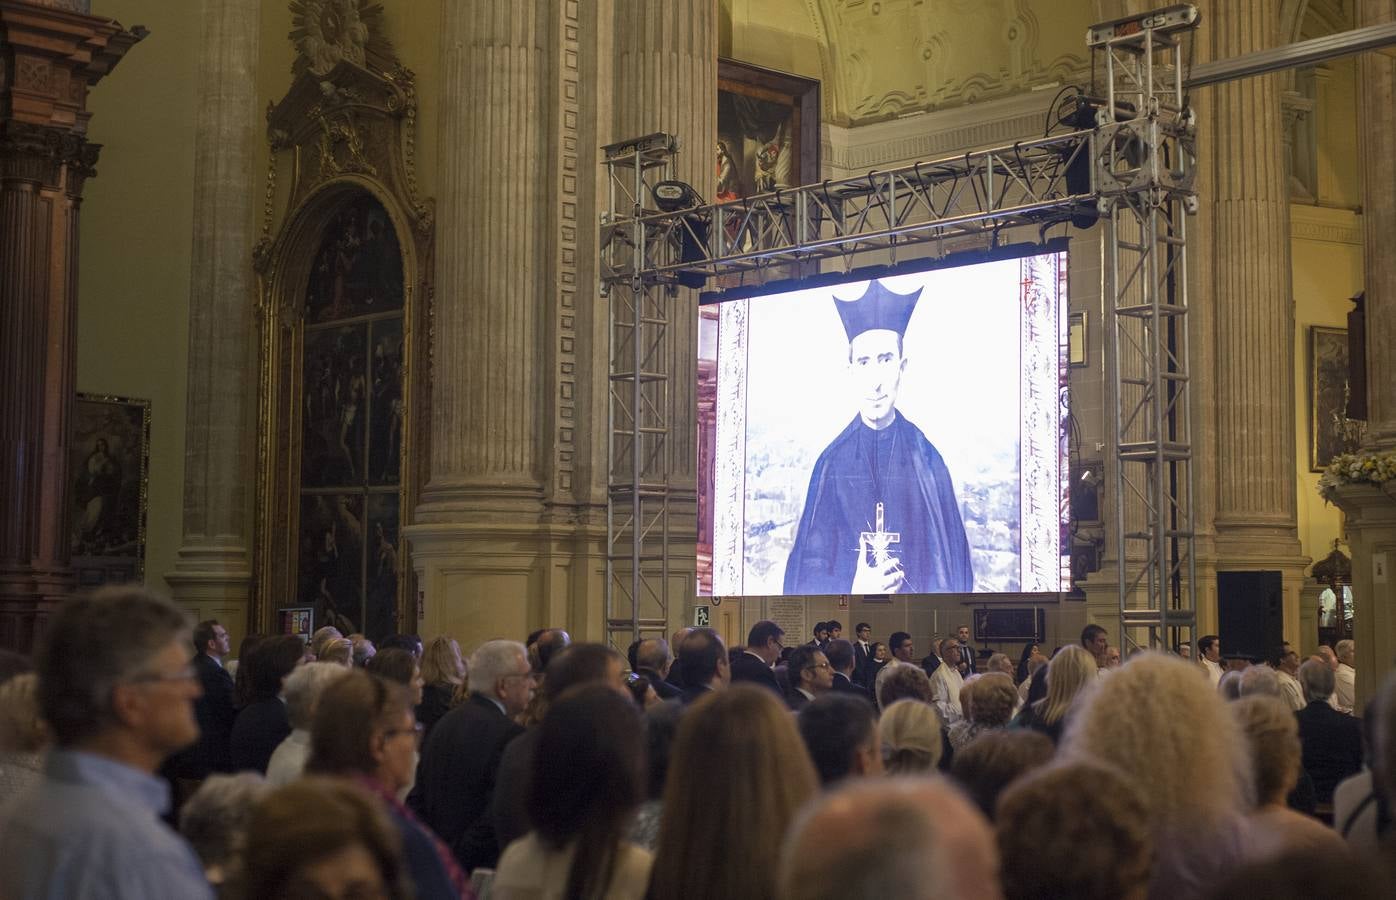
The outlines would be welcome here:
[[[853,781],[796,820],[782,900],[1000,900],[984,816],[944,779]]]

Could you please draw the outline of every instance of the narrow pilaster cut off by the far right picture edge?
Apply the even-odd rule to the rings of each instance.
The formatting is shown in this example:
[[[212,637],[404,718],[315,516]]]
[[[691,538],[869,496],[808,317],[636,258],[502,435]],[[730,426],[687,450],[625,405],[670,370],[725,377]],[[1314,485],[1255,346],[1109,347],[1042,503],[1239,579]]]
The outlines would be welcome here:
[[[1396,21],[1396,0],[1358,0],[1357,24]],[[1357,63],[1362,166],[1362,275],[1367,289],[1367,441],[1396,447],[1396,57]]]

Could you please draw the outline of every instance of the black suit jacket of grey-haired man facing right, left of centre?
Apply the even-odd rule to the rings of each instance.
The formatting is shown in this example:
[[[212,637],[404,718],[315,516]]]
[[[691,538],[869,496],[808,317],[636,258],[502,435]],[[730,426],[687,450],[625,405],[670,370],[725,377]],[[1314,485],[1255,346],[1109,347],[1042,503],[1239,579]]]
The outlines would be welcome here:
[[[466,872],[498,862],[487,813],[504,747],[522,733],[494,700],[472,693],[441,717],[422,748],[408,805],[455,851]]]

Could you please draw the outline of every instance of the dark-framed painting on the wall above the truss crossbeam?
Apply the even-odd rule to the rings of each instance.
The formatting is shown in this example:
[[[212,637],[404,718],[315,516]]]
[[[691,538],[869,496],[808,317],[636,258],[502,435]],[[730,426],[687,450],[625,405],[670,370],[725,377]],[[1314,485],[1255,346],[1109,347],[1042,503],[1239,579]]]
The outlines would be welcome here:
[[[819,82],[718,60],[715,201],[819,180]]]

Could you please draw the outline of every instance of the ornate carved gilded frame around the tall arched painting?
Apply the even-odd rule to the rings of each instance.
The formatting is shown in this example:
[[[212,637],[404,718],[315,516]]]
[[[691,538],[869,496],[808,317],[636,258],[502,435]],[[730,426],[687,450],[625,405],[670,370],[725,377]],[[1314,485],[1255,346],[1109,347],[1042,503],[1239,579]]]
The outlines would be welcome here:
[[[426,435],[430,428],[427,373],[434,216],[431,201],[419,195],[416,183],[413,77],[387,50],[376,54],[376,46],[387,47],[385,42],[376,43],[376,6],[356,0],[299,0],[292,8],[299,15],[311,11],[320,15],[350,6],[369,24],[364,59],[350,54],[324,71],[314,71],[303,56],[286,96],[267,110],[271,153],[262,234],[253,251],[258,272],[261,356],[253,621],[264,629],[272,625],[279,600],[296,592],[300,459],[296,398],[302,391],[306,285],[327,223],[343,204],[364,193],[383,204],[402,250],[403,406],[409,410],[399,493],[403,525],[410,522],[410,511],[430,470]],[[317,21],[322,27],[342,28],[342,22]],[[309,28],[297,18],[300,27]],[[292,38],[299,42],[303,35]],[[405,558],[399,572],[398,611],[406,615],[410,610],[405,600],[415,596],[415,575]]]

